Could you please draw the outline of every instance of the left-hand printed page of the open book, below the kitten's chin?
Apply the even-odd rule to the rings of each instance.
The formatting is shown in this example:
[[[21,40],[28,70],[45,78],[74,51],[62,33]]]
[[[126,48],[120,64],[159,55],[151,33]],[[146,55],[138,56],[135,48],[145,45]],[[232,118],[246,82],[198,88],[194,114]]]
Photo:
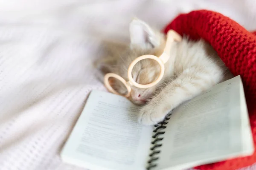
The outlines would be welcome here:
[[[61,157],[90,170],[144,170],[152,127],[137,123],[138,106],[92,91]]]

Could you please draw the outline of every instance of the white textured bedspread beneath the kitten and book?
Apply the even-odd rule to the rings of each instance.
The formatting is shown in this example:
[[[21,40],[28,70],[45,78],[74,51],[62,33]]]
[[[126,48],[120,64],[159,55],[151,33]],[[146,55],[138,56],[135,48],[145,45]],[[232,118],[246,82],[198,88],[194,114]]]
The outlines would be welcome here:
[[[256,29],[255,0],[0,0],[0,170],[84,170],[59,152],[88,93],[105,90],[100,41],[128,42],[134,16],[163,28],[202,8]]]

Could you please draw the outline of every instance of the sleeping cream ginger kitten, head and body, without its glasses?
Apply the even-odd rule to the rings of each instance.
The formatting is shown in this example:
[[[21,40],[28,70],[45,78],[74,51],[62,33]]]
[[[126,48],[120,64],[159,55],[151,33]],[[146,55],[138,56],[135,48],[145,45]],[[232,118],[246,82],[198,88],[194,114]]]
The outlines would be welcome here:
[[[131,62],[144,54],[160,56],[165,47],[166,36],[154,30],[141,20],[130,23],[130,46],[124,51],[114,51],[100,65],[105,65],[105,73],[112,72],[128,81],[127,69]],[[112,48],[115,49],[115,48]],[[171,57],[165,64],[164,78],[158,85],[139,89],[131,87],[132,102],[145,104],[138,121],[143,125],[154,125],[162,121],[172,109],[189,100],[212,85],[216,85],[233,75],[225,67],[212,47],[204,40],[191,41],[183,38],[174,42]],[[148,84],[159,75],[159,65],[151,59],[145,59],[134,66],[133,78],[140,84]],[[125,93],[125,87],[119,81],[113,82],[114,88]]]

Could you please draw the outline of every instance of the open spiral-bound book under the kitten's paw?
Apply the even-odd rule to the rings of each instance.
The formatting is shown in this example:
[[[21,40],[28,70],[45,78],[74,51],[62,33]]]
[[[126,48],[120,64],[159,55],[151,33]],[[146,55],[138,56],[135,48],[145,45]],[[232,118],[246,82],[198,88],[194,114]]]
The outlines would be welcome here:
[[[62,160],[90,170],[182,170],[254,151],[240,76],[183,103],[155,126],[138,124],[138,111],[125,97],[92,91]]]

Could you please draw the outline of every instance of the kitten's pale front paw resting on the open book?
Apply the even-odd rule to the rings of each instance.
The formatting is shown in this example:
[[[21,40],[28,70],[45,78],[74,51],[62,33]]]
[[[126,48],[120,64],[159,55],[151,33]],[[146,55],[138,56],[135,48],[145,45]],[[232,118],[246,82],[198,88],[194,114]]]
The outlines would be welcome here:
[[[163,121],[166,115],[167,113],[163,113],[163,110],[157,106],[145,105],[140,110],[138,122],[142,125],[155,125]]]

